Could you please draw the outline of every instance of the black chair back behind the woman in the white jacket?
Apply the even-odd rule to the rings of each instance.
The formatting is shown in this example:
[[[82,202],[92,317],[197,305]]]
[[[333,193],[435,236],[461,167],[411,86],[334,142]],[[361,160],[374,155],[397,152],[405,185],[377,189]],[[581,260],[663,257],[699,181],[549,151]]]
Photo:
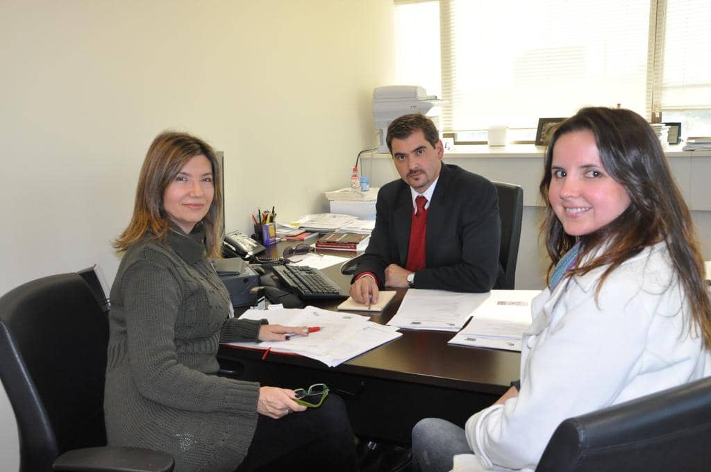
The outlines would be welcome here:
[[[537,472],[711,468],[711,377],[566,419]]]

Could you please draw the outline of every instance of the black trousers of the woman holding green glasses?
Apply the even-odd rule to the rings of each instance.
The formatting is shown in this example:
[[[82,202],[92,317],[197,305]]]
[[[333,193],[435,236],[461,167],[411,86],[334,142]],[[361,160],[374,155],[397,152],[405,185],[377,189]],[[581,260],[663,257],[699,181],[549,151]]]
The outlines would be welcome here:
[[[328,395],[319,408],[273,419],[260,414],[247,456],[235,472],[357,472],[346,406]]]

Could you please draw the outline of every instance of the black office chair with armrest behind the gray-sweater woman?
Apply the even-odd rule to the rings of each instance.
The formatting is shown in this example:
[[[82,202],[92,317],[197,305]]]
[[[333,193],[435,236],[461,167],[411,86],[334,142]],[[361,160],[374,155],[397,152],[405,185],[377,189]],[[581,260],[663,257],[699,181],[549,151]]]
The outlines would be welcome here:
[[[78,274],[0,297],[0,378],[17,420],[21,472],[173,470],[169,454],[106,446],[108,337],[108,318]]]

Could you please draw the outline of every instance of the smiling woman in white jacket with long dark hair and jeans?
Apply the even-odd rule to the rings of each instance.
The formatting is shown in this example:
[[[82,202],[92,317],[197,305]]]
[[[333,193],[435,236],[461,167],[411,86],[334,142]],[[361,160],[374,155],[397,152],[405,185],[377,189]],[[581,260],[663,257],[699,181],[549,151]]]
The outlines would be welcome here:
[[[423,419],[415,471],[533,470],[563,419],[697,380],[711,369],[711,305],[690,213],[638,114],[584,108],[545,156],[552,260],[523,337],[520,384],[464,429]]]

